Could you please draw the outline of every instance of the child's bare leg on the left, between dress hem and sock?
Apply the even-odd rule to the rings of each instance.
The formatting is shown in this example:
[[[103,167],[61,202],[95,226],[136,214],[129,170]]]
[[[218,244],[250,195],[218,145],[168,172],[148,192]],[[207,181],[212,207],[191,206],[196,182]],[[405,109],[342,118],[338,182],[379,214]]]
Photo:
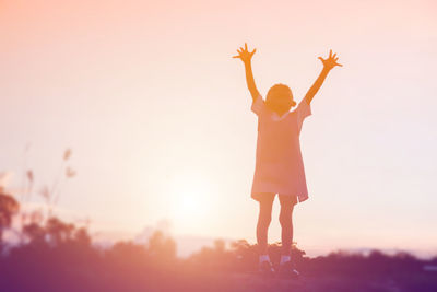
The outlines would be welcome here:
[[[259,206],[260,211],[257,224],[257,242],[260,255],[267,255],[268,247],[268,230],[272,221],[272,206],[275,194],[261,194]]]

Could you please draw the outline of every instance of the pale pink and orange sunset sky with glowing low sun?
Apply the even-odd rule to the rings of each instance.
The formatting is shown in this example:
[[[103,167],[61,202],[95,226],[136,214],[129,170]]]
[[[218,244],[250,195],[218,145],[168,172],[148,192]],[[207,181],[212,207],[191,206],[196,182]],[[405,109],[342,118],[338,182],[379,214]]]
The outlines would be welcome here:
[[[232,56],[257,48],[260,93],[284,83],[300,101],[332,49],[343,67],[300,136],[309,199],[294,241],[437,254],[436,12],[434,1],[0,1],[0,172],[20,197],[33,170],[28,206],[40,206],[70,148],[63,215],[255,243],[257,118]]]

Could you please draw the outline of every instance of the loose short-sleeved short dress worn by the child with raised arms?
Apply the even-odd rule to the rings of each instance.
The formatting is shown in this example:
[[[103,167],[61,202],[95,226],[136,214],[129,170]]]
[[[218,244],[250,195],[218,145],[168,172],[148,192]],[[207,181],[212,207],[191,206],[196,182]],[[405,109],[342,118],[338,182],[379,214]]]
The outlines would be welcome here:
[[[308,199],[304,162],[300,153],[300,129],[311,107],[305,98],[293,112],[279,116],[259,95],[251,110],[258,116],[257,155],[251,198],[260,200],[263,192],[297,196]]]

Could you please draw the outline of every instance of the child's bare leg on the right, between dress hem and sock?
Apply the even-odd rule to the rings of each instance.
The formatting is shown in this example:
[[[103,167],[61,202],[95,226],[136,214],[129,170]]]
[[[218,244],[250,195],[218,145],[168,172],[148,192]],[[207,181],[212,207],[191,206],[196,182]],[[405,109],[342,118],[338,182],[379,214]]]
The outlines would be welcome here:
[[[280,195],[281,202],[281,213],[280,223],[282,227],[281,241],[282,250],[281,254],[284,256],[290,256],[292,252],[293,243],[293,209],[297,200],[295,196]]]

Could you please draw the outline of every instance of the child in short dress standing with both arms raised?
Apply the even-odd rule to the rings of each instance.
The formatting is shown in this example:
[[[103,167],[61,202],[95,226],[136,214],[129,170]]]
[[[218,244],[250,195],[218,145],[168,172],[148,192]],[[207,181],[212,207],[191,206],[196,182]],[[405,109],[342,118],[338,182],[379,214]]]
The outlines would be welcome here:
[[[291,260],[293,242],[293,208],[297,202],[308,199],[304,163],[300,153],[299,135],[304,119],[311,115],[310,103],[320,89],[329,71],[338,63],[336,54],[319,59],[323,69],[296,109],[292,91],[287,85],[273,85],[265,97],[255,85],[251,58],[256,51],[249,52],[247,44],[240,47],[237,56],[245,65],[246,82],[252,96],[251,110],[258,116],[257,159],[251,189],[251,198],[259,202],[257,224],[257,242],[259,247],[259,270],[274,272],[268,249],[268,229],[271,221],[272,205],[276,194],[281,203],[280,223],[282,229],[282,250],[279,272],[297,277],[298,271]]]

